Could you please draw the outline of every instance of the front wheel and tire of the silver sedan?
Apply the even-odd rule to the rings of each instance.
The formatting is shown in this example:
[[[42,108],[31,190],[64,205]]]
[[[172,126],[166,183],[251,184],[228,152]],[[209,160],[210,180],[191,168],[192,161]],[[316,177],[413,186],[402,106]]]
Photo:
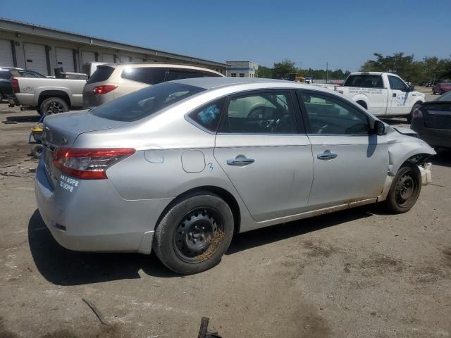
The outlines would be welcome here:
[[[385,207],[392,213],[406,213],[416,203],[421,192],[421,173],[419,168],[406,163],[397,171],[385,199]]]

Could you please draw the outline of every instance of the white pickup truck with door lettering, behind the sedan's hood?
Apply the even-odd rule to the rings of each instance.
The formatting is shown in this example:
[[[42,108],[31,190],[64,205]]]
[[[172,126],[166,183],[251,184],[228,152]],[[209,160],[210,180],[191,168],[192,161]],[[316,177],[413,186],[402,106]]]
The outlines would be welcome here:
[[[399,76],[381,72],[351,73],[343,86],[335,90],[356,101],[376,116],[404,116],[412,121],[413,111],[425,101]]]

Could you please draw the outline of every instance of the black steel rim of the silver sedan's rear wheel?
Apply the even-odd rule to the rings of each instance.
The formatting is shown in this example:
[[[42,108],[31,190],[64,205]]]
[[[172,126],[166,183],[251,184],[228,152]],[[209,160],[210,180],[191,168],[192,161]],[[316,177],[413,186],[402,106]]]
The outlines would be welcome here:
[[[223,218],[210,207],[195,208],[180,219],[173,234],[177,256],[187,263],[210,258],[223,238]]]

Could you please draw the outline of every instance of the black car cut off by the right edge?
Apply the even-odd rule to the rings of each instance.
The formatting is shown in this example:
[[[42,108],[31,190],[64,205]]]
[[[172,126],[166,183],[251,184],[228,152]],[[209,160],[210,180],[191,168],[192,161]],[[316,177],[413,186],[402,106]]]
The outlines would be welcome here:
[[[451,91],[414,111],[412,130],[435,148],[451,148]]]

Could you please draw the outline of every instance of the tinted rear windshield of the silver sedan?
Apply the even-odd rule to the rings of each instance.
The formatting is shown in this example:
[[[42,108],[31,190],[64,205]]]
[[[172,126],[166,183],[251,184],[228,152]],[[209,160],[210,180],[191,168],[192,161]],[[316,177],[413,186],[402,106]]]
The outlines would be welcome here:
[[[147,116],[171,106],[175,102],[204,90],[206,89],[188,86],[187,84],[160,83],[109,101],[92,109],[90,113],[99,116],[99,118],[132,122],[147,118]]]

